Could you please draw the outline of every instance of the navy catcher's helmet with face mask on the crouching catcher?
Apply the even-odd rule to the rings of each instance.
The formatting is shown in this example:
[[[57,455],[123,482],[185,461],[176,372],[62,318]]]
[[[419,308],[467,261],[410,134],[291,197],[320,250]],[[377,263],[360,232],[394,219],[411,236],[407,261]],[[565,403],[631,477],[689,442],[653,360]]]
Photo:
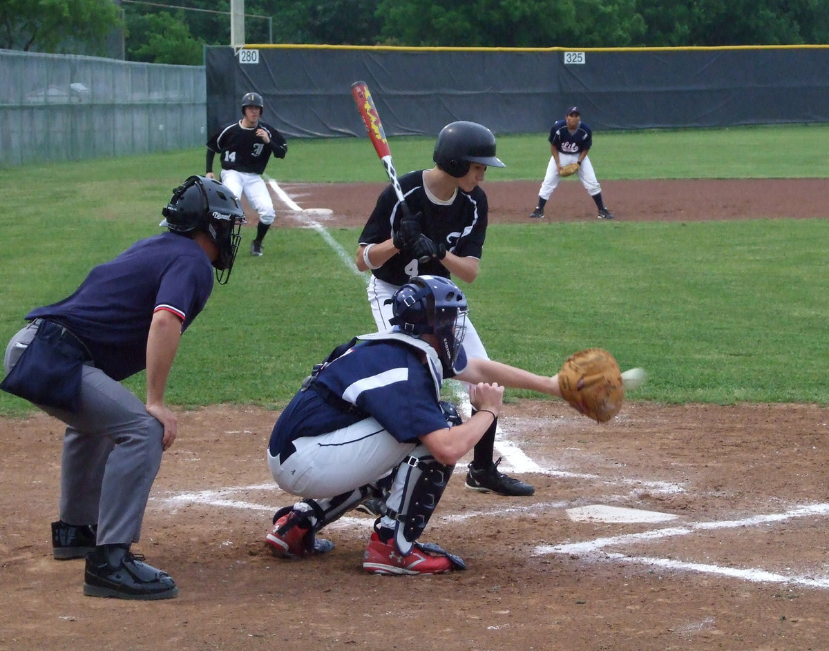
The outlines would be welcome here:
[[[391,297],[395,331],[408,335],[434,335],[435,349],[449,374],[458,359],[468,312],[458,286],[440,276],[415,276]]]

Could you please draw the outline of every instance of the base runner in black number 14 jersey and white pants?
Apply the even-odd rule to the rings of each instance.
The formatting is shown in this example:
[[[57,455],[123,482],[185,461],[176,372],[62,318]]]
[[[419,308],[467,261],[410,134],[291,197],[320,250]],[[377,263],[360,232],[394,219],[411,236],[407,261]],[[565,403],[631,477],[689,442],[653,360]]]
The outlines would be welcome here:
[[[242,119],[228,124],[207,141],[205,176],[212,179],[213,157],[221,154],[221,182],[241,201],[244,194],[259,215],[256,237],[250,243],[250,255],[262,255],[262,240],[276,219],[274,202],[262,178],[271,154],[284,158],[288,142],[284,136],[260,119],[264,102],[259,93],[245,93]]]

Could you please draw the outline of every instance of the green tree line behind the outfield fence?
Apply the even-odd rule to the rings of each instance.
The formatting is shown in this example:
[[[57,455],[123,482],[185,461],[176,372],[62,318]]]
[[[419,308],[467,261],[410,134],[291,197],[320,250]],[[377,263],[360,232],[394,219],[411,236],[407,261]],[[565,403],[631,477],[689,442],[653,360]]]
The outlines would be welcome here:
[[[825,0],[245,0],[245,14],[249,43],[568,48],[829,43]],[[0,23],[4,49],[104,55],[106,37],[123,30],[127,60],[201,65],[203,46],[230,41],[230,2],[0,0]]]

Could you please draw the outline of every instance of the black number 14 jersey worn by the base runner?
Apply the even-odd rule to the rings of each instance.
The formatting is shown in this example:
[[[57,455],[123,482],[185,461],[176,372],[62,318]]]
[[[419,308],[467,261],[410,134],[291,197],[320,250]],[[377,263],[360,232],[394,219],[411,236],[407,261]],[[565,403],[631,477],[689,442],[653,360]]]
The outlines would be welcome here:
[[[269,133],[269,144],[256,135],[257,129]],[[248,129],[242,126],[240,120],[228,124],[207,141],[206,171],[213,171],[213,157],[221,154],[222,169],[261,174],[272,153],[277,158],[284,158],[287,152],[288,142],[269,124],[260,121],[254,128]]]

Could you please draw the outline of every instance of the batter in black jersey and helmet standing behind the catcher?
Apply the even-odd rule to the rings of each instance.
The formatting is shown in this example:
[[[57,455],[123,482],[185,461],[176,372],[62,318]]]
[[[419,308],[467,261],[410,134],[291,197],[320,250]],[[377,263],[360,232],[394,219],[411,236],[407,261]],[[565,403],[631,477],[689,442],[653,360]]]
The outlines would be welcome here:
[[[411,277],[430,274],[463,282],[478,277],[487,237],[487,195],[480,188],[487,166],[503,167],[492,132],[482,124],[453,122],[434,146],[435,166],[400,178],[412,219],[403,219],[400,201],[388,186],[377,199],[356,252],[360,271],[371,270],[368,301],[377,330],[391,328],[391,297]],[[464,348],[470,358],[488,359],[471,321]],[[466,485],[502,495],[531,495],[535,489],[503,474],[493,462],[497,421],[475,446]],[[381,515],[382,504],[368,500],[361,510]]]

